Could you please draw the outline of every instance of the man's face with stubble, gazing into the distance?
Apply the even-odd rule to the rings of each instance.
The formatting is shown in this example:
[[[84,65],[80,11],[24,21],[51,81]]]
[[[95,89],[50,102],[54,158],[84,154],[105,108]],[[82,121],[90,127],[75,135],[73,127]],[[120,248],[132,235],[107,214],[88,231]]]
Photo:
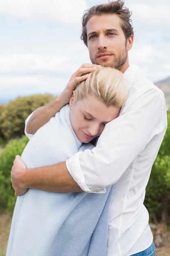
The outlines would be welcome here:
[[[93,64],[115,67],[124,72],[128,67],[129,43],[116,14],[92,16],[86,25],[88,51]]]

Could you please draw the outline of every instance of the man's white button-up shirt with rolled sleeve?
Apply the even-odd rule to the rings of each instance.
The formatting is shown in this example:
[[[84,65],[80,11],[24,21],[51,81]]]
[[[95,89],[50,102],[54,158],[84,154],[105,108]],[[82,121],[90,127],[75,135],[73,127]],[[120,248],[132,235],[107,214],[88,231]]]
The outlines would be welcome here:
[[[153,240],[144,207],[152,164],[167,128],[163,92],[129,67],[129,95],[117,119],[106,124],[97,146],[66,161],[82,190],[104,193],[115,184],[110,206],[107,256],[130,256]]]

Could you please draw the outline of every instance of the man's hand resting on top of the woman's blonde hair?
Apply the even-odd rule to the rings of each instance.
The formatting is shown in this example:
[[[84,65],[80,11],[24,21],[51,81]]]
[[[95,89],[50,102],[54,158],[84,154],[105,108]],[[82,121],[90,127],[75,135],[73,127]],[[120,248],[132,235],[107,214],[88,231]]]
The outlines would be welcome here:
[[[73,90],[75,90],[75,86],[77,85],[77,83],[86,80],[88,78],[88,73],[91,73],[100,67],[101,65],[88,63],[85,63],[81,67],[79,67],[79,69],[75,73],[73,73],[71,79],[68,81],[68,84],[66,85],[66,88],[59,96],[62,98],[62,102],[67,104],[73,94]]]

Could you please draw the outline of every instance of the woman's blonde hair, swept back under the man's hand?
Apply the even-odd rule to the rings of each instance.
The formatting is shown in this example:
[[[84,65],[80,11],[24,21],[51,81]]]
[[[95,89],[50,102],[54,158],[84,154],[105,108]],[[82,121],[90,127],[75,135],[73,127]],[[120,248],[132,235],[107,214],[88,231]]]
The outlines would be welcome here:
[[[101,67],[90,73],[85,81],[77,84],[74,101],[88,97],[89,94],[101,100],[107,107],[121,108],[127,99],[128,88],[119,70]]]

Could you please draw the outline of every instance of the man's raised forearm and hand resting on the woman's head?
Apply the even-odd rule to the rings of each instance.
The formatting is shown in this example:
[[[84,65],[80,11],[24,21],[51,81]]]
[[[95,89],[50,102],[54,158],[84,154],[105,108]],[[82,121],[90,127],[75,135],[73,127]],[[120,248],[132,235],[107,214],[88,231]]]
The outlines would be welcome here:
[[[86,80],[88,78],[88,74],[93,72],[97,68],[101,67],[100,65],[95,64],[83,64],[79,69],[71,76],[71,79],[68,81],[68,84],[64,91],[51,103],[46,106],[42,106],[35,110],[33,115],[28,121],[26,126],[26,132],[29,134],[35,134],[35,132],[46,124],[51,117],[54,117],[60,109],[66,105],[71,95],[73,94],[73,90],[77,83]]]

